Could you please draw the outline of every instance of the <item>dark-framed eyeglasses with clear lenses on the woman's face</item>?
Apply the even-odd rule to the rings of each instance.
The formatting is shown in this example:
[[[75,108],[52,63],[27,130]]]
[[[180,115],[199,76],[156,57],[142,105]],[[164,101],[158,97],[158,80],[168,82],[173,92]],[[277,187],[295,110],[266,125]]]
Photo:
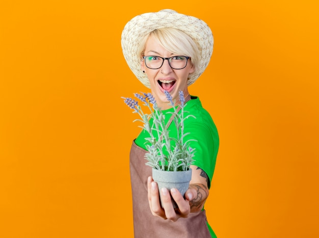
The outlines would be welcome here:
[[[164,64],[164,60],[168,61],[168,64],[172,69],[183,69],[187,65],[188,56],[173,56],[170,58],[163,58],[159,56],[143,56],[145,65],[149,69],[159,69]]]

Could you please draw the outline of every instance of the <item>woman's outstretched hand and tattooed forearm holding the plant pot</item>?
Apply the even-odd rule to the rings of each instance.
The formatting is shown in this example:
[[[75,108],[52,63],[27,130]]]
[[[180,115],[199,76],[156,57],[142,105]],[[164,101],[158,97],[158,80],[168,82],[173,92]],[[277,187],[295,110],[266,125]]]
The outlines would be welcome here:
[[[151,176],[148,177],[148,202],[153,216],[177,221],[181,217],[188,217],[191,212],[197,212],[202,209],[208,196],[207,175],[199,167],[191,166],[191,168],[192,180],[190,188],[185,192],[185,198],[177,189],[171,189],[169,192],[168,189],[163,188],[161,191],[163,207],[160,203],[157,183],[153,181]],[[170,194],[178,208],[174,209]]]

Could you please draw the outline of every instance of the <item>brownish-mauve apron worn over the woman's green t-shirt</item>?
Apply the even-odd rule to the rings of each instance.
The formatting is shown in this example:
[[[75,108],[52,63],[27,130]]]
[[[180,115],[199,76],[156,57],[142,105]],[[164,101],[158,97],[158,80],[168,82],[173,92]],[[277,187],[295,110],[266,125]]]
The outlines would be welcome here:
[[[144,158],[146,152],[146,150],[136,145],[134,141],[132,142],[129,168],[133,201],[134,237],[211,237],[206,225],[205,210],[199,213],[191,213],[188,218],[179,218],[176,222],[152,215],[147,198],[147,177],[152,175],[152,168],[145,165],[147,162]]]

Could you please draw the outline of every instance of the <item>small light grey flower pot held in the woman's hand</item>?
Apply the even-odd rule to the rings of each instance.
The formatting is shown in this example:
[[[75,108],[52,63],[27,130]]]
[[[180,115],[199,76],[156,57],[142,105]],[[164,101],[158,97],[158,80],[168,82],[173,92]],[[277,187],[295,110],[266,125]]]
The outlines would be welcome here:
[[[190,181],[192,179],[192,169],[187,171],[162,171],[152,168],[152,177],[155,182],[157,182],[159,197],[161,198],[162,188],[167,188],[169,191],[175,188],[182,196],[189,189]],[[174,208],[177,208],[177,204],[172,198]]]

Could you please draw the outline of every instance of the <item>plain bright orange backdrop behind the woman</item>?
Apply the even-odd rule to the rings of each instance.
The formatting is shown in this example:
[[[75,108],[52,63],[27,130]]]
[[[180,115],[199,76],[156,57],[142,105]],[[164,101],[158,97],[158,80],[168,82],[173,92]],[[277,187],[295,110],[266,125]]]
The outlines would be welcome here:
[[[6,3],[4,3],[6,2]],[[164,8],[210,26],[190,87],[220,133],[206,203],[222,237],[319,237],[317,1],[2,1],[0,237],[133,237],[121,96],[125,23]]]

